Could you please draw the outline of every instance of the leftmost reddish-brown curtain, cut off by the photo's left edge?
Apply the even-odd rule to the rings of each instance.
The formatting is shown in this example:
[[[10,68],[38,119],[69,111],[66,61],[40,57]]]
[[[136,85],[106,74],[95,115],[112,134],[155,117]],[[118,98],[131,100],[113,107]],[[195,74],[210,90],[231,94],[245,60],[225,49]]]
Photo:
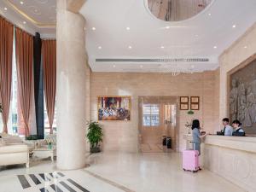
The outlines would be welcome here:
[[[0,103],[3,107],[3,132],[6,133],[12,84],[13,38],[14,26],[0,17]]]

